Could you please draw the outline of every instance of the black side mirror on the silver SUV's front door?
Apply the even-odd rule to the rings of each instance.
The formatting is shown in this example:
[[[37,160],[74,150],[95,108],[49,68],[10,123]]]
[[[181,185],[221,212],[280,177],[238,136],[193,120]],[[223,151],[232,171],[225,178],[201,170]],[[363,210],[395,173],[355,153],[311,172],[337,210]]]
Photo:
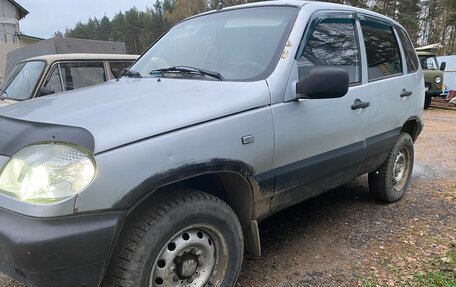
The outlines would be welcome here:
[[[332,99],[347,94],[348,72],[342,68],[315,68],[296,84],[298,99]]]

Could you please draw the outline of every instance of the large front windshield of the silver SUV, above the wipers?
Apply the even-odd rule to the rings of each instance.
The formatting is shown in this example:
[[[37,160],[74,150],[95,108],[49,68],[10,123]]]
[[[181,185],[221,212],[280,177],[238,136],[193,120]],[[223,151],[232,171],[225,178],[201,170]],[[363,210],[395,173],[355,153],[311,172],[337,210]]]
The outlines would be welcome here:
[[[154,70],[181,66],[216,72],[224,80],[261,79],[277,64],[297,12],[294,7],[257,7],[184,21],[157,41],[131,70],[151,77]],[[183,77],[182,70],[161,75]],[[202,77],[214,80],[207,74],[198,75]]]

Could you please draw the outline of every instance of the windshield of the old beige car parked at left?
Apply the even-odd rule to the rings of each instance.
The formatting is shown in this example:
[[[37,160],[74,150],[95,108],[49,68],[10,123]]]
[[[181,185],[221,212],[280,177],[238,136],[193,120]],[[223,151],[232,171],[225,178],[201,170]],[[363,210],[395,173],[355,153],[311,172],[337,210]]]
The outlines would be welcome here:
[[[17,64],[0,86],[2,98],[12,100],[30,99],[43,69],[43,61]]]

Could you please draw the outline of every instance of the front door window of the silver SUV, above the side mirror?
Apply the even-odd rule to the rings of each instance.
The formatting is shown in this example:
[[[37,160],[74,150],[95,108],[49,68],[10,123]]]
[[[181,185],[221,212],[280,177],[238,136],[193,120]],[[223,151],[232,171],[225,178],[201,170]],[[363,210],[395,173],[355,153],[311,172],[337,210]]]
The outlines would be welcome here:
[[[350,83],[361,81],[355,20],[349,14],[316,20],[298,55],[299,79],[318,67],[347,70]]]

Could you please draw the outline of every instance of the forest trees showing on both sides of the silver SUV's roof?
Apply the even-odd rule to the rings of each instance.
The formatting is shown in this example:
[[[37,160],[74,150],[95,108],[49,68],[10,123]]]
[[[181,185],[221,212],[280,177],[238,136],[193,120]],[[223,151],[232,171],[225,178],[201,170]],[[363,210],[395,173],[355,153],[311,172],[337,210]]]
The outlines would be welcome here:
[[[224,6],[261,0],[223,0]],[[440,43],[441,54],[456,54],[456,0],[322,0],[365,8],[401,23],[416,46]],[[127,53],[140,54],[177,22],[216,9],[219,0],[156,0],[145,11],[118,12],[112,19],[89,18],[54,36],[119,41]]]

